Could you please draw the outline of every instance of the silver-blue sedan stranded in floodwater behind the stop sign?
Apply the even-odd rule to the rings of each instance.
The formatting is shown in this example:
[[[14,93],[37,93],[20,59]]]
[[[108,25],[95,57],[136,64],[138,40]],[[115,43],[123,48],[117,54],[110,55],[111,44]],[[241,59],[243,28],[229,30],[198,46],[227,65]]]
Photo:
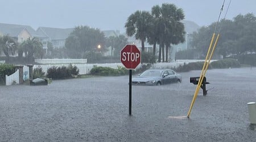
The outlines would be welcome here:
[[[182,78],[171,69],[150,69],[139,76],[132,78],[132,85],[164,85],[168,83],[181,83]]]

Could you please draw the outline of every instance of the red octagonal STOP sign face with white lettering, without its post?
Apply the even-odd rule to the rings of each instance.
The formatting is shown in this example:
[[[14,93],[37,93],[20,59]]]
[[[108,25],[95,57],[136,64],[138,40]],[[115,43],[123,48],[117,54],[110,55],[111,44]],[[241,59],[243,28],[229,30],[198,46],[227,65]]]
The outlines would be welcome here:
[[[133,44],[127,44],[121,50],[120,61],[126,69],[135,69],[141,63],[141,51]]]

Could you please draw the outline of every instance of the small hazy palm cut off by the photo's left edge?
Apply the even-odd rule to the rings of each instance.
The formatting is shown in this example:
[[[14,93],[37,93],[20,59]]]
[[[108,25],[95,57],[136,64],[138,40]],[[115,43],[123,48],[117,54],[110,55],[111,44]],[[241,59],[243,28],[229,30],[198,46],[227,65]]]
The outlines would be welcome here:
[[[1,49],[3,53],[5,53],[7,60],[9,60],[9,53],[11,52],[11,55],[15,54],[17,44],[15,43],[14,39],[8,35],[0,36],[0,51]]]

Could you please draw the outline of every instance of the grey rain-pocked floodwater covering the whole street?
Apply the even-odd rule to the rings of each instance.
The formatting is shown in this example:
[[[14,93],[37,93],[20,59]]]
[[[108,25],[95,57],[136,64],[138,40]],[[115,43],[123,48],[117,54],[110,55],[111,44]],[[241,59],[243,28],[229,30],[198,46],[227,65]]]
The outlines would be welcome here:
[[[256,101],[256,68],[212,69],[207,96],[196,85],[133,86],[129,76],[0,86],[0,141],[255,141],[247,102]]]

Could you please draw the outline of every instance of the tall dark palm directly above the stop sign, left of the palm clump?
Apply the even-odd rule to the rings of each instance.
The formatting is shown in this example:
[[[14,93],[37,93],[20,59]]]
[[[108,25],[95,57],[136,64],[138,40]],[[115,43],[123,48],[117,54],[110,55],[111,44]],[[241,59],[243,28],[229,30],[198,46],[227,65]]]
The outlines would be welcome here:
[[[150,30],[151,19],[150,12],[138,10],[128,17],[125,24],[127,36],[135,34],[135,39],[141,40],[142,52],[145,49],[144,41],[146,41],[146,36]]]

